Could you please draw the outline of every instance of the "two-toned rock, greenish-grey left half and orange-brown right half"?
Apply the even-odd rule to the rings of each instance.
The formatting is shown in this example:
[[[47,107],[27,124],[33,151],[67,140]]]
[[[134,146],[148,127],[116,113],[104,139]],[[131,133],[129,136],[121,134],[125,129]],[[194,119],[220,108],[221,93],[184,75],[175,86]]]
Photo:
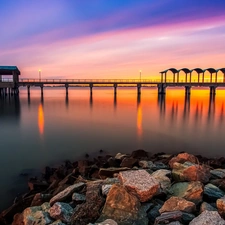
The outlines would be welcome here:
[[[172,196],[184,198],[195,204],[202,202],[203,191],[203,185],[199,181],[175,183],[169,189]]]

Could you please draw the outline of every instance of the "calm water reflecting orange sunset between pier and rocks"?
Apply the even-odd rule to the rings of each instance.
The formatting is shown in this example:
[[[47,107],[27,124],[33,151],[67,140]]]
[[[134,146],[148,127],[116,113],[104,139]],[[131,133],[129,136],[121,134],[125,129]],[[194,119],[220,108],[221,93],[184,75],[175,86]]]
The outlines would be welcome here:
[[[210,98],[208,89],[168,89],[158,98],[155,88],[32,88],[30,99],[0,99],[0,211],[26,187],[22,172],[35,174],[46,165],[96,154],[188,151],[224,156],[225,90]],[[25,189],[26,190],[26,189]]]

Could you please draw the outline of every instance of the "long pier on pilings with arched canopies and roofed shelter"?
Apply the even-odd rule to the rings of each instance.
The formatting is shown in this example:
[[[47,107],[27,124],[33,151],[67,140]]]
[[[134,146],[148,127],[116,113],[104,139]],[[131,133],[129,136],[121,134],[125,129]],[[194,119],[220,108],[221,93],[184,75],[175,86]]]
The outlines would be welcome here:
[[[172,73],[172,79],[168,79],[168,73]],[[185,74],[184,79],[180,78],[180,73]],[[193,79],[193,73],[197,73],[197,79]],[[210,79],[205,78],[205,73],[210,73]],[[218,73],[222,74],[222,79],[218,79]],[[70,87],[89,87],[92,95],[95,87],[112,87],[114,95],[117,94],[118,87],[136,87],[137,95],[141,95],[141,88],[144,86],[155,86],[158,94],[166,94],[168,87],[184,87],[185,95],[190,95],[192,87],[208,87],[210,95],[216,94],[218,87],[225,87],[225,68],[221,69],[187,69],[177,70],[170,68],[160,72],[161,79],[19,79],[20,71],[17,67],[0,66],[0,94],[18,94],[20,87],[27,87],[28,96],[32,86],[40,87],[43,96],[45,86],[63,86],[66,96]],[[11,78],[3,78],[3,75],[11,75]]]

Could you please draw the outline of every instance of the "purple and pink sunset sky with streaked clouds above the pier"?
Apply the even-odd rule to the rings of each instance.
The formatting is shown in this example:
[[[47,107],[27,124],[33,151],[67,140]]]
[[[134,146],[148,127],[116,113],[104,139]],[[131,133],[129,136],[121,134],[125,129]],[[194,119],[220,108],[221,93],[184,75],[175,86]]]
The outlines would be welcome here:
[[[1,0],[0,15],[0,65],[21,78],[225,67],[224,0]]]

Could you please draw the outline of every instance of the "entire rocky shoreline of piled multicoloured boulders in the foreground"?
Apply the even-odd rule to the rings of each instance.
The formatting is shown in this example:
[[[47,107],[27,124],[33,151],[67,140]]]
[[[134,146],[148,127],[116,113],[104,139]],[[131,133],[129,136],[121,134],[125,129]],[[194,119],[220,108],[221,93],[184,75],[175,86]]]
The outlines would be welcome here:
[[[0,224],[225,225],[225,158],[136,150],[46,167],[28,186]]]

